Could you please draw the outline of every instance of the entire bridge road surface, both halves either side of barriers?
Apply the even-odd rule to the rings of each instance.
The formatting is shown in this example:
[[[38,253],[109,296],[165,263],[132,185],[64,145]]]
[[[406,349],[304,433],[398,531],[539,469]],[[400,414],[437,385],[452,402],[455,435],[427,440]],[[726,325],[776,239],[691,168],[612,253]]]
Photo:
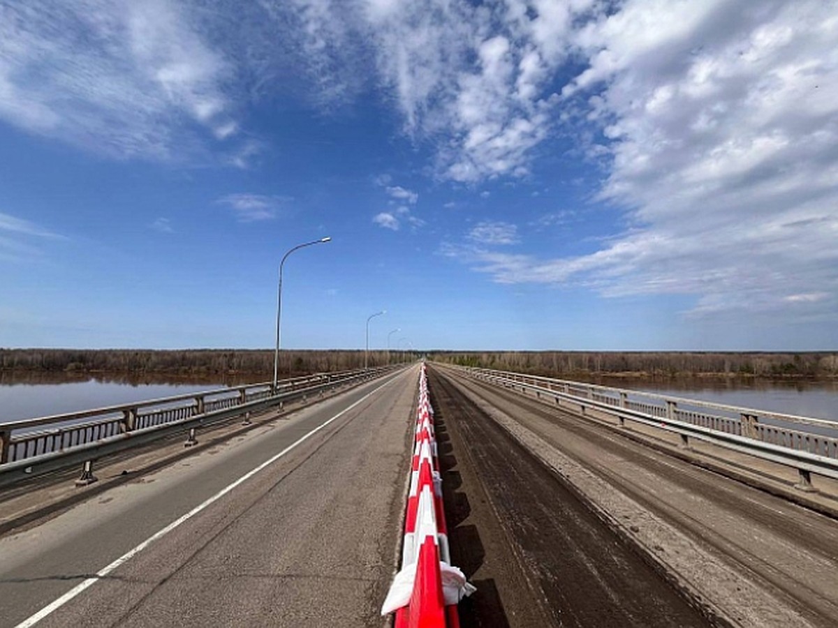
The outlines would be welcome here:
[[[431,366],[469,626],[835,625],[838,525]],[[416,367],[0,538],[0,626],[381,626]]]

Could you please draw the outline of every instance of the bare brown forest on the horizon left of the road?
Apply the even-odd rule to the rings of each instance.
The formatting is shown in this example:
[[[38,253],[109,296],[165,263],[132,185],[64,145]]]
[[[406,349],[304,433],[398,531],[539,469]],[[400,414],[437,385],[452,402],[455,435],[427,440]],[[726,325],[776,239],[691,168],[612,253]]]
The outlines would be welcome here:
[[[389,353],[389,355],[388,355]],[[246,373],[270,378],[273,351],[249,349],[3,349],[0,371],[39,373],[159,373],[167,375],[218,375]],[[393,350],[370,351],[370,367],[411,358]],[[413,359],[413,358],[411,358]],[[343,371],[364,366],[364,351],[285,351],[280,353],[282,377]]]

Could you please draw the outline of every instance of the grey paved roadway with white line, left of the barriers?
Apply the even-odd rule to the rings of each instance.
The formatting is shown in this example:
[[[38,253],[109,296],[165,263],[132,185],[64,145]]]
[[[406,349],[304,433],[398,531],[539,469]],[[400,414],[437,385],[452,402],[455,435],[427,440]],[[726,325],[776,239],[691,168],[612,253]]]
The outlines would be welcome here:
[[[375,380],[0,538],[0,625],[382,625],[417,381]]]

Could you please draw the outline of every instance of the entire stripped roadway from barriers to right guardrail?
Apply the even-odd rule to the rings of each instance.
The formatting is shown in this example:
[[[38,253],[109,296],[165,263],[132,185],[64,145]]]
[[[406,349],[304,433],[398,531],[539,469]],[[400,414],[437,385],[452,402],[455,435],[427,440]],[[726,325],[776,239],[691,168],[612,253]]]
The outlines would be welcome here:
[[[430,386],[452,560],[490,584],[463,625],[835,625],[835,519],[448,369]]]

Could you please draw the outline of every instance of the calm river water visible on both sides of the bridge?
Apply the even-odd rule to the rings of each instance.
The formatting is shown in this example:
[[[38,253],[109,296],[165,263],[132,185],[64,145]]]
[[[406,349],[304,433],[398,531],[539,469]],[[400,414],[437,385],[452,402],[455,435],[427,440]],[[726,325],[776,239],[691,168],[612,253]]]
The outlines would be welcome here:
[[[89,378],[70,374],[48,377],[32,373],[0,376],[0,423],[63,414],[107,405],[130,404],[177,394],[222,389],[228,385],[266,381],[250,378],[178,380],[172,378]],[[770,410],[838,421],[838,382],[789,382],[686,378],[597,378],[594,383],[645,390],[688,399]]]

